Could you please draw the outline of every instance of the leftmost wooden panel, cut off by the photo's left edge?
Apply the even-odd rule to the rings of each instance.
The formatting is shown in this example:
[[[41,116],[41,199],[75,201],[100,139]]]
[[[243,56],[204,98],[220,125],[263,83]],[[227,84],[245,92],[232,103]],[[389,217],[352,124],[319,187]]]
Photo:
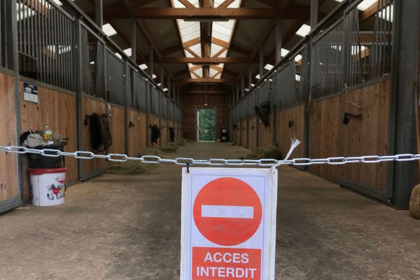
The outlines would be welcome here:
[[[16,142],[15,78],[0,73],[0,145],[13,146]],[[17,155],[0,152],[0,202],[17,197]]]

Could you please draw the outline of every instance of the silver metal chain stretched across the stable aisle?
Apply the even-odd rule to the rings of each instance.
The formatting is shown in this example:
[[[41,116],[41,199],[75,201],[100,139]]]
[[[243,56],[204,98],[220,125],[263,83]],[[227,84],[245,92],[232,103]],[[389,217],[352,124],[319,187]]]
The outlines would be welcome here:
[[[34,149],[22,146],[0,146],[0,151],[6,153],[26,154],[32,153],[45,157],[57,158],[59,156],[73,157],[78,160],[93,160],[94,158],[106,159],[110,162],[126,162],[136,160],[146,164],[172,163],[175,165],[209,165],[209,166],[260,166],[275,167],[279,165],[346,165],[347,163],[379,163],[379,162],[409,162],[420,160],[420,154],[404,153],[398,155],[363,155],[360,157],[333,157],[333,158],[294,158],[293,160],[275,160],[262,158],[260,160],[225,160],[223,158],[211,158],[209,160],[194,160],[193,158],[160,158],[158,155],[143,155],[140,158],[129,157],[123,153],[109,153],[108,155],[98,155],[89,151],[76,151],[73,153],[63,152],[56,149],[43,148]]]

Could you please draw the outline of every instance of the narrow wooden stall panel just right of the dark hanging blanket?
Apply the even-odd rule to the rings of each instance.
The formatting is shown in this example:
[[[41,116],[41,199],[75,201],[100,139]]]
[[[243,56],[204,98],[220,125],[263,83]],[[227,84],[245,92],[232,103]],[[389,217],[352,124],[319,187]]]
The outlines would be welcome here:
[[[120,106],[111,105],[111,128],[112,146],[109,153],[125,153],[125,118],[124,109]]]

